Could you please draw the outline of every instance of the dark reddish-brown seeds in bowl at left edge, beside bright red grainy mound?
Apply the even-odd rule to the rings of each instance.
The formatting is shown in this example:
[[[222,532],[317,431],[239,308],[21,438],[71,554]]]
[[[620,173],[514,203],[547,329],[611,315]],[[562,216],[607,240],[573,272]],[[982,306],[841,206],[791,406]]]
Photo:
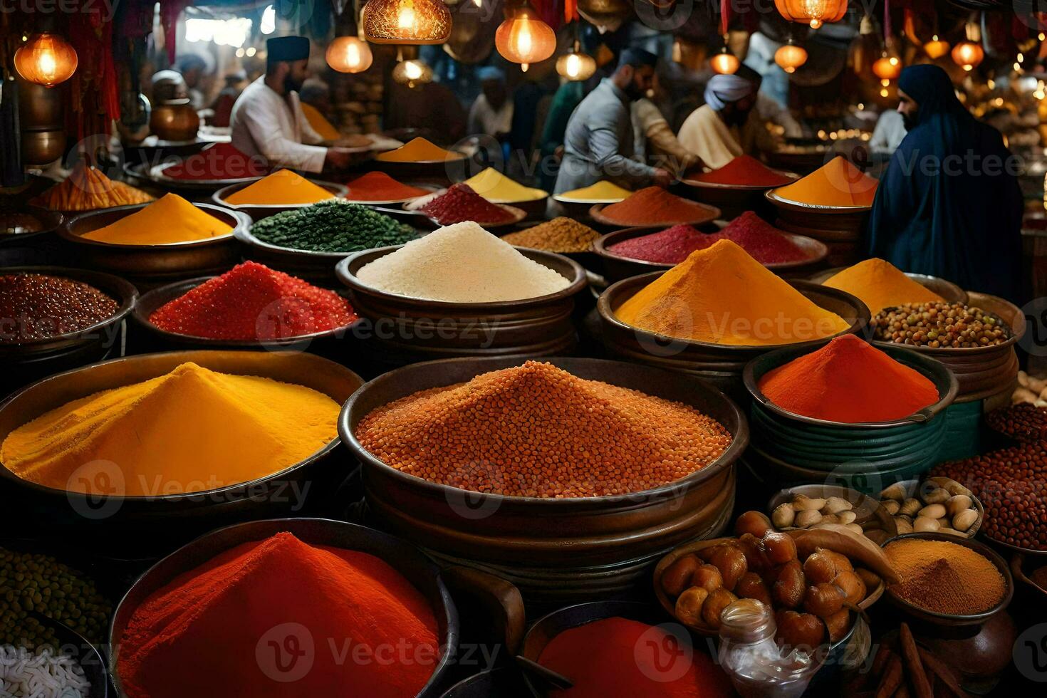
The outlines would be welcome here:
[[[76,332],[112,317],[119,305],[98,289],[46,274],[0,275],[0,343]]]

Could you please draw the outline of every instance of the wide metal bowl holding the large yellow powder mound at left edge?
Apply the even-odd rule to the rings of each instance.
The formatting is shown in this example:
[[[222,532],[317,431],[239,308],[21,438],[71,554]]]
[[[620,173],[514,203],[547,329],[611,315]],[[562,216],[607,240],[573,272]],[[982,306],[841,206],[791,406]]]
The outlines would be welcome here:
[[[169,352],[103,361],[58,374],[23,388],[0,403],[0,443],[15,429],[73,400],[103,390],[139,383],[170,373],[186,361],[211,370],[262,376],[313,388],[343,403],[363,381],[327,359],[298,352]],[[193,526],[214,527],[216,520],[242,520],[260,513],[284,514],[300,502],[289,488],[313,488],[343,473],[336,465],[341,442],[337,435],[299,463],[258,479],[205,492],[156,496],[86,495],[43,487],[0,466],[0,482],[17,493],[9,505],[25,520],[68,530],[83,526],[85,517],[115,545],[125,539],[152,540],[185,536]],[[279,495],[279,496],[277,496]],[[177,523],[176,523],[177,522]],[[99,533],[101,535],[101,533]],[[154,538],[156,537],[156,538]]]

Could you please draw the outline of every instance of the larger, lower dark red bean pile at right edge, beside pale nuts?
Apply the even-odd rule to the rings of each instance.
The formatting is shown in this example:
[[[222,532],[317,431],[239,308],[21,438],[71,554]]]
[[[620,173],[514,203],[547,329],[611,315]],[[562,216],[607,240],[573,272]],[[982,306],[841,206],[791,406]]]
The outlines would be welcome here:
[[[1047,550],[1047,442],[1024,444],[936,466],[985,506],[980,533],[1010,545]]]

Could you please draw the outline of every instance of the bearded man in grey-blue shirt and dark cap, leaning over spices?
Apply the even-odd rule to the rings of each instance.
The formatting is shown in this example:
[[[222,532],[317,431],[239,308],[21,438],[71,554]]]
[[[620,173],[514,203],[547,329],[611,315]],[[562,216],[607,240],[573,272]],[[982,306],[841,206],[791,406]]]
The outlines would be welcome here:
[[[654,82],[658,57],[642,48],[622,51],[618,69],[588,93],[567,121],[563,160],[555,194],[609,179],[630,188],[650,183],[668,186],[672,174],[632,159],[630,103],[644,96]]]

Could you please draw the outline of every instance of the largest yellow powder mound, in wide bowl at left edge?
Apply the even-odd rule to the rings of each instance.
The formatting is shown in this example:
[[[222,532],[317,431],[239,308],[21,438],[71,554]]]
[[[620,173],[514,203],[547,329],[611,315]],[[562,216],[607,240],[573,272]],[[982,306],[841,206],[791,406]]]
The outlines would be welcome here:
[[[336,436],[339,405],[311,388],[184,363],[25,424],[0,446],[22,479],[59,490],[156,496],[258,479]]]

